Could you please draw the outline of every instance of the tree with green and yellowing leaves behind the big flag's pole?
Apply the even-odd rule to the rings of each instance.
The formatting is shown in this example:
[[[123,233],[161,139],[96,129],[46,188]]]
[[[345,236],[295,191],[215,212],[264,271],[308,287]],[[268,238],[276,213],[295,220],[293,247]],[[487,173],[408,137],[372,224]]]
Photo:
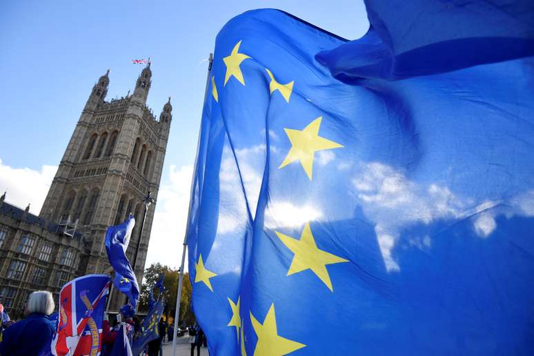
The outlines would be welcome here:
[[[163,266],[159,263],[151,264],[145,270],[143,284],[141,285],[141,295],[139,296],[139,311],[148,311],[148,293],[156,284],[159,276],[165,273],[164,287],[165,292],[162,296],[164,298],[164,315],[168,322],[173,322],[176,312],[176,293],[178,290],[179,270],[170,268],[169,266]],[[159,298],[159,289],[153,289],[154,299]],[[181,288],[181,301],[180,301],[180,322],[186,324],[195,323],[195,315],[190,310],[191,302],[191,282],[189,280],[189,273],[184,274],[184,282]]]

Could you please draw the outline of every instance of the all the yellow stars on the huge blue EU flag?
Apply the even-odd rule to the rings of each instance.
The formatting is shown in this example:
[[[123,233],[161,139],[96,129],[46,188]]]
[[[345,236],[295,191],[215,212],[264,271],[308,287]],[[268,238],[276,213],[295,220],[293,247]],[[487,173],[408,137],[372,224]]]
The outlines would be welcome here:
[[[241,41],[238,41],[230,52],[230,55],[223,58],[224,64],[226,65],[223,86],[226,86],[232,77],[245,86],[245,79],[243,77],[243,72],[241,72],[241,63],[246,59],[252,59],[252,57],[239,52],[240,46]],[[270,95],[272,96],[274,92],[278,91],[284,100],[289,103],[295,81],[290,81],[286,84],[280,83],[275,79],[273,72],[267,68],[266,72],[270,78]],[[211,77],[211,87],[213,99],[216,102],[219,102],[219,93],[217,92],[215,77]],[[337,142],[319,136],[321,122],[322,117],[317,117],[308,123],[302,130],[284,128],[290,141],[291,148],[284,161],[281,162],[279,169],[293,164],[295,161],[299,161],[300,166],[311,181],[313,179],[313,161],[315,159],[315,152],[343,147]],[[293,259],[290,263],[287,276],[310,270],[333,293],[333,284],[330,280],[330,275],[328,274],[326,266],[348,262],[348,260],[319,249],[315,242],[315,238],[313,237],[309,222],[306,222],[299,239],[290,237],[284,233],[279,233],[278,231],[275,231],[275,234],[282,244],[293,253]],[[213,292],[210,278],[216,277],[217,273],[206,268],[202,255],[199,255],[199,259],[195,264],[195,270],[195,284],[203,283]],[[241,296],[238,296],[237,301],[235,302],[228,298],[228,304],[230,304],[230,309],[232,310],[232,317],[227,326],[235,327],[237,341],[239,342],[241,349],[241,356],[246,356],[246,337],[244,337],[243,319],[241,319],[240,313]],[[271,304],[263,322],[259,322],[252,312],[250,312],[250,322],[257,335],[254,356],[286,355],[306,346],[305,344],[278,335],[274,303]]]

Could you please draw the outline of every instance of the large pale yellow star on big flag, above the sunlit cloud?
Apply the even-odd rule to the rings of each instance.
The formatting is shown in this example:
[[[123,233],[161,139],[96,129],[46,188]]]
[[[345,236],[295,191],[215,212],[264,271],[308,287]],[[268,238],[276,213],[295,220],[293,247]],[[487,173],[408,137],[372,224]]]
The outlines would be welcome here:
[[[304,128],[304,130],[293,130],[292,128],[284,128],[289,141],[291,141],[291,149],[288,155],[278,168],[284,168],[290,163],[299,160],[302,168],[312,179],[313,158],[316,151],[330,150],[331,148],[343,147],[319,136],[319,126],[321,126],[322,116],[317,117]]]

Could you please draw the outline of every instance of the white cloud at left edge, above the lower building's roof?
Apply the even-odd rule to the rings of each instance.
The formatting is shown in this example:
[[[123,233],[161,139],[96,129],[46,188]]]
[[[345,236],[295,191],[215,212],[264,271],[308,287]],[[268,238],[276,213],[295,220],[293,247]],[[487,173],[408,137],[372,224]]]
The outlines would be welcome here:
[[[37,215],[56,171],[57,166],[42,166],[41,170],[13,168],[0,159],[0,194],[6,191],[6,201],[21,208],[30,203],[30,212]]]

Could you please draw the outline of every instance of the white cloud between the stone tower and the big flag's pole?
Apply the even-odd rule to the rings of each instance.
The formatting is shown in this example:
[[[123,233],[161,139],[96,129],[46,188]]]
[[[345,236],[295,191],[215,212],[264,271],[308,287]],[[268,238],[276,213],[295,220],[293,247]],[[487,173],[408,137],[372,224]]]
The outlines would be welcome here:
[[[186,233],[192,166],[169,168],[168,182],[161,184],[152,221],[146,265],[159,262],[178,268]],[[187,270],[187,258],[186,268]]]

